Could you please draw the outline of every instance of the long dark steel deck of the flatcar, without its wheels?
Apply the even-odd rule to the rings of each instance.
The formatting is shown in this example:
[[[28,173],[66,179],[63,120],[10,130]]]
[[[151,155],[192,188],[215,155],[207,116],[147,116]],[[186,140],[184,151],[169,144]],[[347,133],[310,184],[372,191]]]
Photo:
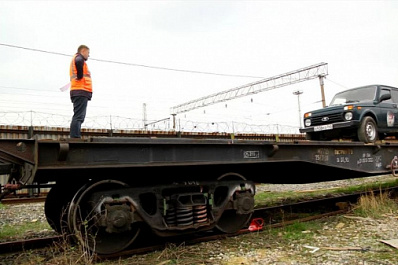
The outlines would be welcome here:
[[[184,174],[183,169],[191,168],[188,174],[196,175],[202,167],[210,171],[229,167],[256,182],[305,183],[389,173],[397,155],[398,143],[389,142],[142,137],[0,140],[0,174],[14,174],[14,179],[31,184],[72,177],[78,171],[126,174],[133,168],[141,172],[145,168],[156,173],[178,167]],[[287,174],[275,177],[272,172]]]

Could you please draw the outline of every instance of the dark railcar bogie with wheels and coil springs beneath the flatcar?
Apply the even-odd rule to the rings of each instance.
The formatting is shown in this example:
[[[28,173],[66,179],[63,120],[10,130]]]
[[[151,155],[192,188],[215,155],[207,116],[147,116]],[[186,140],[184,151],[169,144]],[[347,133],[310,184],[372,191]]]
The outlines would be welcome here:
[[[50,196],[46,214],[53,224],[66,223],[67,232],[91,251],[111,254],[129,247],[143,226],[162,237],[213,228],[237,232],[250,220],[254,194],[254,183],[245,179],[142,187],[108,179],[83,185],[67,205],[66,218],[55,216],[64,214],[65,203],[56,208]],[[65,226],[53,228],[65,232]]]

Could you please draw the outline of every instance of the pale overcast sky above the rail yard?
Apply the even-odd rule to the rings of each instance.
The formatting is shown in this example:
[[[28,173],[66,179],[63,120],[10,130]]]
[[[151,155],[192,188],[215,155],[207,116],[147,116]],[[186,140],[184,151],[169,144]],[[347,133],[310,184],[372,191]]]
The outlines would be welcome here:
[[[347,88],[398,86],[398,1],[0,1],[0,123],[29,111],[70,121],[59,88],[80,44],[93,79],[86,126],[170,118],[178,104],[321,62],[328,104]],[[322,107],[313,79],[177,118],[298,128],[297,90],[302,114]]]

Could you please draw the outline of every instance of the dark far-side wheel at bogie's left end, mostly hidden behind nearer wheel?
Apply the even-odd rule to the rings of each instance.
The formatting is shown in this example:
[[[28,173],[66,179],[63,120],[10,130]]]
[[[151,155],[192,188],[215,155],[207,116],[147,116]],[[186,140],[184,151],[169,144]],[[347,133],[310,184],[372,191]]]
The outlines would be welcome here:
[[[48,224],[57,233],[67,232],[67,213],[69,203],[79,187],[56,185],[47,194],[44,213]]]

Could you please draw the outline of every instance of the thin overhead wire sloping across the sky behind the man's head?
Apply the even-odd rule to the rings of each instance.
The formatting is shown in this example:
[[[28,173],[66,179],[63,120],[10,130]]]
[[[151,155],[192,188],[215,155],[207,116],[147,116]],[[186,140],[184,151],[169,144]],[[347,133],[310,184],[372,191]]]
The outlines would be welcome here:
[[[23,49],[23,50],[34,51],[34,52],[43,52],[43,53],[48,53],[48,54],[53,54],[53,55],[61,55],[61,56],[71,57],[70,54],[65,54],[65,53],[60,53],[60,52],[51,52],[51,51],[33,49],[33,48],[27,48],[27,47],[22,47],[22,46],[17,46],[17,45],[10,45],[10,44],[5,44],[5,43],[0,43],[0,46],[5,46],[5,47],[9,47],[9,48]],[[205,74],[205,75],[218,75],[218,76],[230,76],[230,77],[264,78],[262,76],[233,75],[233,74],[223,74],[223,73],[214,73],[214,72],[203,72],[203,71],[185,70],[185,69],[177,69],[177,68],[169,68],[169,67],[161,67],[161,66],[151,66],[151,65],[145,65],[145,64],[118,62],[118,61],[112,61],[112,60],[95,59],[95,58],[91,58],[91,57],[90,57],[90,60],[103,62],[103,63],[114,63],[114,64],[121,64],[121,65],[136,66],[136,67],[146,67],[146,68],[152,68],[152,69],[157,69],[157,70],[167,70],[167,71],[184,72],[184,73],[191,73],[191,74]]]

